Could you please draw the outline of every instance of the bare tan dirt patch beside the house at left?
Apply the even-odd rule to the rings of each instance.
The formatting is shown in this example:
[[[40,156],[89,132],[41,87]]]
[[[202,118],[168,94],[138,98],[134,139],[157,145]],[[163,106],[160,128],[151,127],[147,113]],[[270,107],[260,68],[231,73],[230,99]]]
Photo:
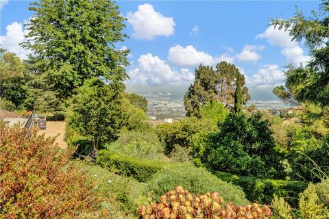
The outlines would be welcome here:
[[[40,130],[40,133],[45,133],[46,137],[55,137],[60,134],[55,140],[55,143],[62,149],[66,149],[67,144],[65,141],[65,122],[52,122],[47,121],[46,130]]]

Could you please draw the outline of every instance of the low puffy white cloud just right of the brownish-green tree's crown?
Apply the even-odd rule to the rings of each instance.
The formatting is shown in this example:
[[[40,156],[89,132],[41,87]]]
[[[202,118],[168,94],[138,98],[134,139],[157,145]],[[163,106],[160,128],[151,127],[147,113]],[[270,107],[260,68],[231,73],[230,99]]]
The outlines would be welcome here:
[[[258,73],[252,76],[250,83],[257,86],[276,85],[282,83],[284,79],[284,73],[279,69],[279,66],[271,64],[265,66],[265,68],[260,68]]]

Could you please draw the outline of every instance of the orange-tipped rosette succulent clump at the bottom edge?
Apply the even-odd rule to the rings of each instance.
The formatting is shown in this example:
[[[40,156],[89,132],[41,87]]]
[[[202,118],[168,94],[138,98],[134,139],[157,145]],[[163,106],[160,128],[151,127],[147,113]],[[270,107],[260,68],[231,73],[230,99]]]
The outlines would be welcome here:
[[[266,205],[260,207],[256,203],[241,206],[230,202],[225,205],[218,192],[192,196],[182,186],[176,186],[175,190],[162,195],[158,203],[140,207],[138,215],[141,219],[267,219],[271,216],[271,210]]]

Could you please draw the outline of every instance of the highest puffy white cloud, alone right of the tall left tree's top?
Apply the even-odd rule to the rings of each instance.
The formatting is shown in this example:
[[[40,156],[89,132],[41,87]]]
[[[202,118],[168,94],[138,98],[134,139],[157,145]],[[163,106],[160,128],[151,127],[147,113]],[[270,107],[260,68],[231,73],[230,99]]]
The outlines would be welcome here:
[[[127,21],[134,29],[133,35],[138,39],[151,40],[155,36],[171,36],[174,34],[175,21],[156,12],[153,5],[138,5],[134,13],[127,13]]]

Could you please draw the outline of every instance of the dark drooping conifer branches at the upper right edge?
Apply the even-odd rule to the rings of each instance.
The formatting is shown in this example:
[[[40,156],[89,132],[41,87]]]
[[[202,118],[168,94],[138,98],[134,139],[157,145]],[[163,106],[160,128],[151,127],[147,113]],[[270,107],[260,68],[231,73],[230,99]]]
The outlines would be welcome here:
[[[313,17],[306,18],[297,10],[293,18],[272,20],[271,25],[289,31],[293,40],[305,42],[310,51],[306,67],[291,68],[287,75],[287,81],[295,85],[295,98],[324,107],[329,105],[329,1],[323,1],[321,10],[312,13]]]

